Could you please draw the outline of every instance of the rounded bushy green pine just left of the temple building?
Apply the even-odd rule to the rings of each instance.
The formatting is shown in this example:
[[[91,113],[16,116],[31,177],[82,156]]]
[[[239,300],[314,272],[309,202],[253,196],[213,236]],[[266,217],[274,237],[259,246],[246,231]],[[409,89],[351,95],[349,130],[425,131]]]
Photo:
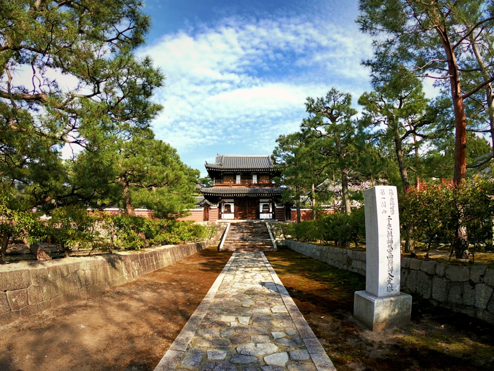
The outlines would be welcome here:
[[[129,215],[144,207],[161,217],[178,216],[195,205],[200,172],[153,133],[141,134],[97,152],[82,151],[72,165],[71,184],[93,207],[121,206]]]

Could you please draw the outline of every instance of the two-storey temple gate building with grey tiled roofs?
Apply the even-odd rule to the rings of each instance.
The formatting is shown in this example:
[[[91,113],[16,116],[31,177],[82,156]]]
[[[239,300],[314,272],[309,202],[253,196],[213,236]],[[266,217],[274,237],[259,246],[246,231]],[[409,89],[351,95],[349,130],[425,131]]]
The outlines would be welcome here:
[[[212,186],[202,188],[203,220],[273,220],[285,221],[285,206],[279,204],[282,188],[274,178],[271,155],[217,155],[206,161]],[[217,215],[215,215],[217,213]]]

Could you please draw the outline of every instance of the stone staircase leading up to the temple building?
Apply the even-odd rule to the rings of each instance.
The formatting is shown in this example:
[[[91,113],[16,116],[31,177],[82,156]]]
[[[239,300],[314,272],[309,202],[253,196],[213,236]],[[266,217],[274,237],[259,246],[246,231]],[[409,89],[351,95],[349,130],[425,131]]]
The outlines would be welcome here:
[[[230,223],[227,227],[219,250],[276,250],[276,244],[265,222]]]

